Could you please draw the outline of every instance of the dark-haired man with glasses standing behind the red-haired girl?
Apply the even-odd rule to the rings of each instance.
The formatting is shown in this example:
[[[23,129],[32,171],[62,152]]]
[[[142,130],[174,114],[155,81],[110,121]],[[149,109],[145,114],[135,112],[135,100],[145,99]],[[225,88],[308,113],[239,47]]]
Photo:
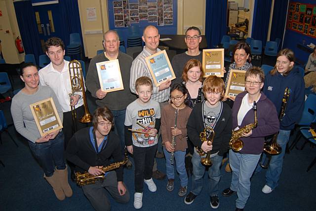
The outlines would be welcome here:
[[[181,76],[184,65],[190,59],[197,59],[202,63],[202,53],[198,48],[199,43],[202,41],[201,31],[197,27],[190,27],[186,31],[184,41],[187,44],[188,50],[182,54],[175,55],[172,60],[172,69],[177,77],[176,80],[173,80],[173,83],[182,82]]]

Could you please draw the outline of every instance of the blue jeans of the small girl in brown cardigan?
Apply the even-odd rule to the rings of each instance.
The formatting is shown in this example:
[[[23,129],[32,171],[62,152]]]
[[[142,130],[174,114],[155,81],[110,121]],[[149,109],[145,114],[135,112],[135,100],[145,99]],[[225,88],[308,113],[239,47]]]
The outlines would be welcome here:
[[[166,174],[168,179],[174,179],[174,166],[177,168],[177,172],[179,173],[180,177],[180,184],[181,187],[186,187],[188,185],[188,175],[185,166],[185,156],[186,151],[175,151],[174,152],[174,159],[175,162],[171,165],[170,162],[170,155],[171,153],[168,152],[165,148],[163,148],[164,157],[166,158]]]

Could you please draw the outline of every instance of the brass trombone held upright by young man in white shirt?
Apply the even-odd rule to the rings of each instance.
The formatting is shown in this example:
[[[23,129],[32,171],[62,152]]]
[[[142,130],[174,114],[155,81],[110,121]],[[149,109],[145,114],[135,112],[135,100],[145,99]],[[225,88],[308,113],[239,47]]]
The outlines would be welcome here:
[[[85,97],[85,90],[84,90],[84,82],[83,82],[83,73],[80,63],[77,60],[73,60],[69,63],[69,75],[70,75],[70,84],[71,84],[71,91],[72,93],[69,94],[69,97],[75,95],[76,92],[82,92],[82,99],[83,99],[83,106],[84,106],[84,115],[79,119],[79,122],[88,123],[92,122],[92,115],[89,113],[87,100]],[[72,100],[70,100],[72,103]],[[75,127],[75,132],[77,131],[77,114],[75,106],[71,106],[72,118],[73,118],[73,125]]]

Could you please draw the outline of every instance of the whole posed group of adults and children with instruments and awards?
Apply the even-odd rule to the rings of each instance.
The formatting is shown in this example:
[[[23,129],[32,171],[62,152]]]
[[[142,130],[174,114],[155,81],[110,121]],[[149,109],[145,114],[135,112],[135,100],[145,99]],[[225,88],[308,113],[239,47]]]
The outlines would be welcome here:
[[[85,78],[85,86],[98,106],[93,113],[91,127],[72,121],[71,106],[76,107],[79,118],[84,113],[83,99],[80,92],[69,95],[72,93],[71,73],[69,62],[64,60],[65,48],[60,38],[51,37],[45,43],[46,54],[51,61],[49,65],[40,71],[34,64],[22,65],[20,77],[25,87],[12,99],[11,114],[16,130],[28,140],[56,197],[64,200],[73,194],[68,183],[66,157],[72,179],[75,179],[75,172],[105,176],[103,181],[82,186],[84,195],[95,210],[111,208],[105,189],[118,203],[127,203],[130,194],[123,182],[123,166],[109,172],[103,169],[113,161],[121,162],[126,146],[127,151],[133,154],[135,167],[134,207],[140,209],[144,183],[151,192],[155,192],[157,186],[153,178],[165,177],[157,170],[155,159],[161,137],[167,191],[174,190],[176,166],[180,179],[178,195],[185,196],[185,204],[190,205],[201,193],[203,176],[208,171],[210,206],[218,208],[220,168],[223,157],[229,154],[232,182],[222,195],[237,193],[236,210],[241,211],[250,196],[250,177],[255,171],[259,172],[257,166],[265,137],[278,133],[277,143],[282,152],[272,156],[266,185],[262,188],[262,192],[271,193],[282,171],[290,131],[299,121],[304,107],[304,79],[294,67],[294,53],[290,49],[281,50],[274,69],[265,75],[260,68],[252,67],[248,44],[237,43],[228,72],[245,71],[245,91],[228,99],[224,94],[227,82],[212,75],[203,78],[202,53],[199,51],[202,38],[197,27],[190,27],[186,32],[184,41],[188,50],[172,60],[177,78],[159,86],[153,83],[145,61],[146,57],[160,51],[158,29],[147,26],[142,39],[145,42],[143,51],[133,60],[118,50],[119,37],[115,31],[104,34],[105,51],[91,59]],[[96,64],[115,59],[118,59],[124,90],[107,93],[100,87]],[[285,115],[279,120],[286,87],[290,96]],[[29,105],[50,97],[63,122],[63,129],[41,137]],[[238,152],[229,149],[232,131],[242,129],[255,120],[256,127],[243,132],[240,137],[243,148]],[[200,139],[206,128],[211,128],[214,135],[211,144]],[[201,164],[200,160],[205,155],[200,155],[199,151],[209,154],[212,163],[209,168]],[[186,157],[192,157],[191,188],[188,187]]]

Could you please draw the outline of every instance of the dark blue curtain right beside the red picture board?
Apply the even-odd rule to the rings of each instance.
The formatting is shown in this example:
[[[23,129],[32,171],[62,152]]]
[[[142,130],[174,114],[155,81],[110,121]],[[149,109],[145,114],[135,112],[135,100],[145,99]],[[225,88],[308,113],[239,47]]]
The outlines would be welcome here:
[[[276,38],[281,39],[279,49],[282,48],[283,33],[286,21],[288,0],[275,0],[270,40],[274,41]]]

